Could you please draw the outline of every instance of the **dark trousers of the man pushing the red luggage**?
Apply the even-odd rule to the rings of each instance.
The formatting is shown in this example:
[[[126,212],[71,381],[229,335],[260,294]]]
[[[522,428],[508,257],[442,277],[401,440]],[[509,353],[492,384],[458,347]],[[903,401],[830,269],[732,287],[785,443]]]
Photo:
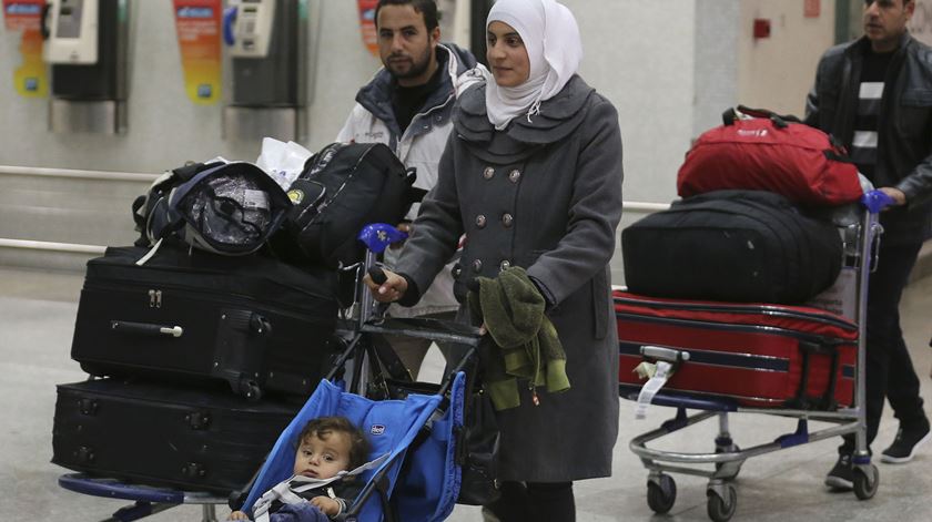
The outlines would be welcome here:
[[[890,400],[901,426],[923,422],[919,378],[900,329],[900,298],[922,243],[884,245],[868,285],[867,408],[868,446],[877,437],[883,400]],[[840,453],[854,450],[854,436],[844,436]]]

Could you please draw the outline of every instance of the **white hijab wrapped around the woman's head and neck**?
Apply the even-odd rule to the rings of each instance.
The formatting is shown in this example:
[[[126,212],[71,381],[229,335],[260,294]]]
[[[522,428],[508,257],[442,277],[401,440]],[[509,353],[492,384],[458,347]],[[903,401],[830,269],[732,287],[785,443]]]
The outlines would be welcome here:
[[[527,81],[514,88],[498,85],[485,72],[488,121],[500,131],[523,113],[530,121],[540,113],[540,102],[563,90],[579,69],[582,41],[573,13],[555,0],[498,0],[488,12],[486,28],[495,21],[518,32],[530,61]]]

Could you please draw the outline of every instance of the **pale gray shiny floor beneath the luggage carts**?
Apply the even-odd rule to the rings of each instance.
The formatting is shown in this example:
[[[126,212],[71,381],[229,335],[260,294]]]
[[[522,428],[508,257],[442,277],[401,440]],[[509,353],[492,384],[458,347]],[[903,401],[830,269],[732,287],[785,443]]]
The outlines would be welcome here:
[[[84,378],[69,357],[81,277],[28,270],[0,269],[0,411],[7,421],[0,428],[0,513],[28,520],[103,520],[122,501],[84,497],[60,489],[63,469],[49,463],[54,408],[54,385]],[[922,378],[926,411],[932,413],[932,277],[911,288],[903,299],[903,327]],[[426,375],[440,371],[440,357],[428,355]],[[432,373],[433,372],[433,373]],[[631,437],[654,429],[670,412],[655,408],[645,421],[635,421],[631,403],[622,402],[620,437],[615,449],[610,479],[576,485],[580,522],[705,521],[705,479],[676,475],[679,489],[669,515],[648,509],[647,473],[628,450]],[[708,450],[713,423],[700,424],[669,437],[663,448]],[[737,414],[731,431],[742,447],[769,441],[793,430],[794,421],[772,416]],[[884,418],[877,446],[885,447],[896,422]],[[822,479],[834,461],[835,441],[827,440],[771,453],[744,463],[737,481],[736,521],[895,521],[932,520],[932,444],[909,464],[879,463],[880,491],[860,502],[851,493],[830,493]],[[220,508],[222,520],[229,510]],[[478,521],[475,508],[458,506],[449,520]],[[153,521],[199,521],[199,506],[183,506],[152,516]]]

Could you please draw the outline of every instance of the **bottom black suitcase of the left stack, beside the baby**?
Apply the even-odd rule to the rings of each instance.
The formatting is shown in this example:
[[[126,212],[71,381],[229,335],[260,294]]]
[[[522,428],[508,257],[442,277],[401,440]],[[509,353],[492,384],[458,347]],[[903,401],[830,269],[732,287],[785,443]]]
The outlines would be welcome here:
[[[95,477],[227,494],[262,465],[300,403],[114,379],[58,386],[52,462]]]

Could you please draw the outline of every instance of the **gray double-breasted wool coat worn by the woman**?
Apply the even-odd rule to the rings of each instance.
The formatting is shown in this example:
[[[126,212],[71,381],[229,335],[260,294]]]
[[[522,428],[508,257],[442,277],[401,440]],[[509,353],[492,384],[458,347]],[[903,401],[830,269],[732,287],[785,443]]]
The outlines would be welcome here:
[[[538,390],[534,406],[497,412],[503,480],[561,482],[611,474],[618,436],[618,340],[609,259],[621,217],[621,137],[611,103],[579,76],[502,132],[488,122],[485,84],[454,109],[436,187],[425,197],[397,265],[416,295],[466,234],[454,268],[468,279],[524,267],[549,303],[570,389]],[[411,296],[405,296],[411,301]],[[460,310],[460,316],[465,314]]]

